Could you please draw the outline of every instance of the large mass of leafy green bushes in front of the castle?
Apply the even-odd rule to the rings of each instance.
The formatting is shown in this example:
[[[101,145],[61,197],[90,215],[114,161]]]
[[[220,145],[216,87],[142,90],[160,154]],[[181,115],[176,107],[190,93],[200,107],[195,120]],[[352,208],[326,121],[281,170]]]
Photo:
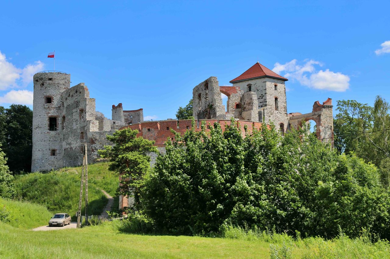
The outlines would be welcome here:
[[[236,122],[209,135],[194,129],[168,140],[142,190],[142,208],[163,233],[218,233],[231,224],[333,238],[370,229],[389,238],[390,199],[379,172],[355,155],[265,124],[241,136]],[[158,198],[156,198],[158,197]]]

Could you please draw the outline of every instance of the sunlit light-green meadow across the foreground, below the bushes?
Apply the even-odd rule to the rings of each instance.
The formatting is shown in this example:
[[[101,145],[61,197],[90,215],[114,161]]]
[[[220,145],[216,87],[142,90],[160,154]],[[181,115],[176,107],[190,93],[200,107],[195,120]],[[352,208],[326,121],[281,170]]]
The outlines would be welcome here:
[[[30,231],[0,222],[1,258],[388,258],[390,245],[365,238],[287,235],[205,238],[124,234],[119,221],[61,231]],[[237,231],[236,231],[237,234]],[[283,251],[287,250],[287,254]]]

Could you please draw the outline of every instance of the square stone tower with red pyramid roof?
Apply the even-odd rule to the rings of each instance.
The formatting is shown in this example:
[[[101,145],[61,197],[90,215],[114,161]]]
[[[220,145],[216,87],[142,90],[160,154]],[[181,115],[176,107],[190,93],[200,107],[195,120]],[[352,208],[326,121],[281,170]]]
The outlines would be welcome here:
[[[239,87],[241,91],[255,92],[258,100],[259,121],[273,122],[284,133],[289,122],[285,87],[287,80],[257,62],[230,83],[234,87]]]

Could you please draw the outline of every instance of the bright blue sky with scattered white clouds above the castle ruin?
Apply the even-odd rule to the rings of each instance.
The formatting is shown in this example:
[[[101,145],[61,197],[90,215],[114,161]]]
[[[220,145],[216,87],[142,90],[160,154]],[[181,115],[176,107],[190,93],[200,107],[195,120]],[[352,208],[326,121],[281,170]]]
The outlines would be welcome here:
[[[389,1],[7,1],[0,15],[0,105],[32,103],[32,75],[71,73],[96,109],[174,118],[192,88],[259,60],[290,80],[288,112],[314,101],[390,101]],[[382,44],[382,45],[381,45]],[[29,105],[32,107],[32,105]]]

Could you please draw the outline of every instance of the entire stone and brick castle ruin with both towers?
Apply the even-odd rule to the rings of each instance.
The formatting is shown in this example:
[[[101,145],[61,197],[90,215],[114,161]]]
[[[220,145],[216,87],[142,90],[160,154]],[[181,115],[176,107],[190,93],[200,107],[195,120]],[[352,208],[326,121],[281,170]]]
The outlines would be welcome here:
[[[90,98],[84,83],[70,87],[70,77],[63,72],[34,75],[32,172],[81,165],[83,144],[88,144],[88,162],[93,163],[98,159],[97,150],[111,144],[106,135],[117,129],[137,129],[138,137],[154,140],[160,153],[165,153],[165,141],[174,138],[170,129],[184,133],[191,128],[191,120],[144,121],[142,108],[123,110],[122,103],[112,105],[112,119],[108,119],[96,111],[95,99]],[[317,137],[333,141],[332,99],[323,104],[316,101],[308,114],[287,114],[287,80],[259,62],[231,80],[233,86],[219,86],[216,77],[209,77],[193,89],[196,130],[203,120],[219,122],[224,129],[225,122],[234,118],[243,132],[245,125],[251,130],[272,122],[284,135],[313,120]],[[228,98],[227,107],[221,93]],[[157,154],[150,156],[153,164]],[[121,199],[123,207],[127,203]]]

